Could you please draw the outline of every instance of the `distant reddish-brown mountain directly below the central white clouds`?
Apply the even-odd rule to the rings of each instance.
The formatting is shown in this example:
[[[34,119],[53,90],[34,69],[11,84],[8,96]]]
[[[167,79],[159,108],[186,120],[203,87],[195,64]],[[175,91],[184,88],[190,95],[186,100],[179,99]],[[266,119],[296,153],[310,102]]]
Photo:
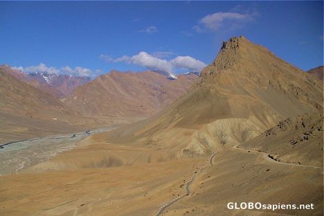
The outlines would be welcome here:
[[[64,103],[82,114],[96,116],[150,116],[188,91],[197,75],[169,80],[154,71],[111,71],[78,87]]]

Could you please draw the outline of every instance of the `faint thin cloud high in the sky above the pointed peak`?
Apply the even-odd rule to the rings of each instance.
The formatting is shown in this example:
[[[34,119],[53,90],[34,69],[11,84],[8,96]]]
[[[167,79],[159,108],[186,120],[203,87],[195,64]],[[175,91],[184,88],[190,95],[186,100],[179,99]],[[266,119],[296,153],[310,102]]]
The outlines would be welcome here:
[[[238,28],[245,22],[253,21],[255,15],[256,13],[215,12],[201,18],[199,24],[192,29],[204,33],[208,30],[217,31],[224,26],[228,29]]]

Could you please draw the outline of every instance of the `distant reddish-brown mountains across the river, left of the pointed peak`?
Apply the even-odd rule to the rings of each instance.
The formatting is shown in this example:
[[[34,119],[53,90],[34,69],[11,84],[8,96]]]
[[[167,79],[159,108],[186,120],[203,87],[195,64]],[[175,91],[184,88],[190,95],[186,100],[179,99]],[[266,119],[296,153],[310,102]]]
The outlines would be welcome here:
[[[82,131],[105,124],[105,116],[150,116],[186,93],[196,73],[112,71],[90,78],[24,73],[0,66],[0,142],[49,133]],[[89,116],[89,117],[84,117]],[[128,118],[129,117],[129,118]],[[96,120],[93,120],[95,119]]]

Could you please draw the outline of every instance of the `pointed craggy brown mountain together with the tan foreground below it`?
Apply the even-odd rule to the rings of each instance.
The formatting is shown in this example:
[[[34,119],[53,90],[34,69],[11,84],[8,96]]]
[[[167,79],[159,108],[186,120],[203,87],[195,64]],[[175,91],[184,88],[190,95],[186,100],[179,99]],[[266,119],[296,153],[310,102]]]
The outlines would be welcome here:
[[[252,142],[251,138],[275,127],[287,116],[323,111],[322,85],[323,82],[261,46],[234,37],[224,44],[215,64],[204,70],[195,88],[159,114],[108,134],[89,136],[78,149],[26,170],[60,172],[1,177],[3,188],[8,190],[3,190],[0,204],[4,208],[0,212],[5,215],[35,215],[35,212],[323,215],[323,169],[290,164],[295,159],[305,164],[312,162],[308,153],[305,156],[300,153],[305,145],[298,143],[291,150],[289,156],[294,160],[289,159],[288,163],[278,163],[262,152],[233,147]],[[294,126],[300,127],[302,118],[307,123],[305,132],[309,132],[311,125],[319,123],[312,116],[291,118],[291,123],[280,123],[269,132],[276,132],[279,137],[286,133],[281,131],[283,125],[282,128],[287,127],[287,137],[293,137],[290,132]],[[303,132],[296,130],[296,134]],[[279,140],[273,137],[272,141]],[[277,151],[282,145],[284,150],[278,153],[287,159],[287,143],[283,142],[274,143],[273,149],[269,145],[268,150]],[[307,145],[317,157],[314,143]],[[212,151],[208,157],[170,160]],[[248,201],[271,205],[314,204],[315,209],[230,210],[227,205],[232,201],[238,205]]]

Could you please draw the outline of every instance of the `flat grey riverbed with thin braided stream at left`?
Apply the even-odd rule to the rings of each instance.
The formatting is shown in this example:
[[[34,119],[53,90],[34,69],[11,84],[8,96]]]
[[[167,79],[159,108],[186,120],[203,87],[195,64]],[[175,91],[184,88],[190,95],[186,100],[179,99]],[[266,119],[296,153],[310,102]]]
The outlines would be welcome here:
[[[73,134],[61,134],[30,138],[0,145],[0,174],[19,172],[30,166],[48,161],[57,154],[72,150],[91,134],[109,132],[115,126],[87,130]]]

